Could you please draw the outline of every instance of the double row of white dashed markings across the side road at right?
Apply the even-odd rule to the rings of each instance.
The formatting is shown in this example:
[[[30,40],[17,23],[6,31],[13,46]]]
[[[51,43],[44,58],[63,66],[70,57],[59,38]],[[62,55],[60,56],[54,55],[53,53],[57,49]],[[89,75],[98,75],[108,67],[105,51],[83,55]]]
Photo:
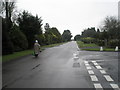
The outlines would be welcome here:
[[[89,61],[90,62],[90,61]],[[97,70],[99,70],[101,72],[101,74],[103,74],[103,77],[107,80],[107,82],[112,82],[114,83],[114,80],[110,77],[110,75],[104,75],[107,74],[106,71],[96,62],[96,61],[91,61],[95,67],[97,68]],[[90,67],[88,61],[84,61],[84,64],[88,70],[88,73],[90,75],[91,81],[96,82],[93,83],[94,87],[99,90],[103,90],[103,87],[100,83],[97,83],[99,80],[97,78],[97,76],[95,75],[94,71],[92,70],[92,68]],[[114,90],[120,90],[119,86],[117,84],[112,84],[110,83],[109,85],[114,89]]]

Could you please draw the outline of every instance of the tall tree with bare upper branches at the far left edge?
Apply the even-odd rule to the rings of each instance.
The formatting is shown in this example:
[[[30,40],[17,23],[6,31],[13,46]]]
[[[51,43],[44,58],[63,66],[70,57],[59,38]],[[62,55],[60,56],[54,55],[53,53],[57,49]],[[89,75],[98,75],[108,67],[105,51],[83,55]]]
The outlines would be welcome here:
[[[2,52],[3,54],[13,53],[13,43],[9,32],[12,28],[12,15],[15,9],[15,2],[11,0],[2,0],[1,2],[2,11],[1,16],[3,16],[2,22]]]

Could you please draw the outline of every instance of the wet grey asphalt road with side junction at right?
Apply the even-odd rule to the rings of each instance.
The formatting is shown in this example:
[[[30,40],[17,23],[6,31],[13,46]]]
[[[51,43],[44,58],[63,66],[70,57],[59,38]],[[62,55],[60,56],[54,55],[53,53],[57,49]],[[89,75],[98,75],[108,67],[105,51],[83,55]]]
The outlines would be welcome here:
[[[3,64],[3,87],[118,88],[118,63],[117,52],[82,51],[72,41]]]

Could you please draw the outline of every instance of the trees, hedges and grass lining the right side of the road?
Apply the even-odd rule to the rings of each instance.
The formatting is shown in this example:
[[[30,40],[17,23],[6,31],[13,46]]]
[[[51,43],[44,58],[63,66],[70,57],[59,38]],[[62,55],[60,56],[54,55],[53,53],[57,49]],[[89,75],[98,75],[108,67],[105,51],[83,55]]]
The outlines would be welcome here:
[[[74,40],[84,50],[98,51],[98,48],[92,48],[96,46],[102,46],[104,51],[115,51],[116,46],[120,49],[120,21],[117,17],[107,16],[100,27],[87,28],[81,35],[76,35]]]

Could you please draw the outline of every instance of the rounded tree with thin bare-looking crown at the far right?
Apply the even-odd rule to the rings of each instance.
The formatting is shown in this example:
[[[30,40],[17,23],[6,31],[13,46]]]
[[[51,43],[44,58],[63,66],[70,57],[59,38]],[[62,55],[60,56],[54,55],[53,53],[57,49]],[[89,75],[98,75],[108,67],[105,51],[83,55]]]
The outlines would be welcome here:
[[[104,38],[105,46],[113,45],[112,43],[118,43],[120,39],[120,22],[114,16],[107,16],[104,20],[104,25],[101,30],[101,37]],[[120,41],[119,41],[120,42]],[[114,46],[118,46],[115,44]]]

